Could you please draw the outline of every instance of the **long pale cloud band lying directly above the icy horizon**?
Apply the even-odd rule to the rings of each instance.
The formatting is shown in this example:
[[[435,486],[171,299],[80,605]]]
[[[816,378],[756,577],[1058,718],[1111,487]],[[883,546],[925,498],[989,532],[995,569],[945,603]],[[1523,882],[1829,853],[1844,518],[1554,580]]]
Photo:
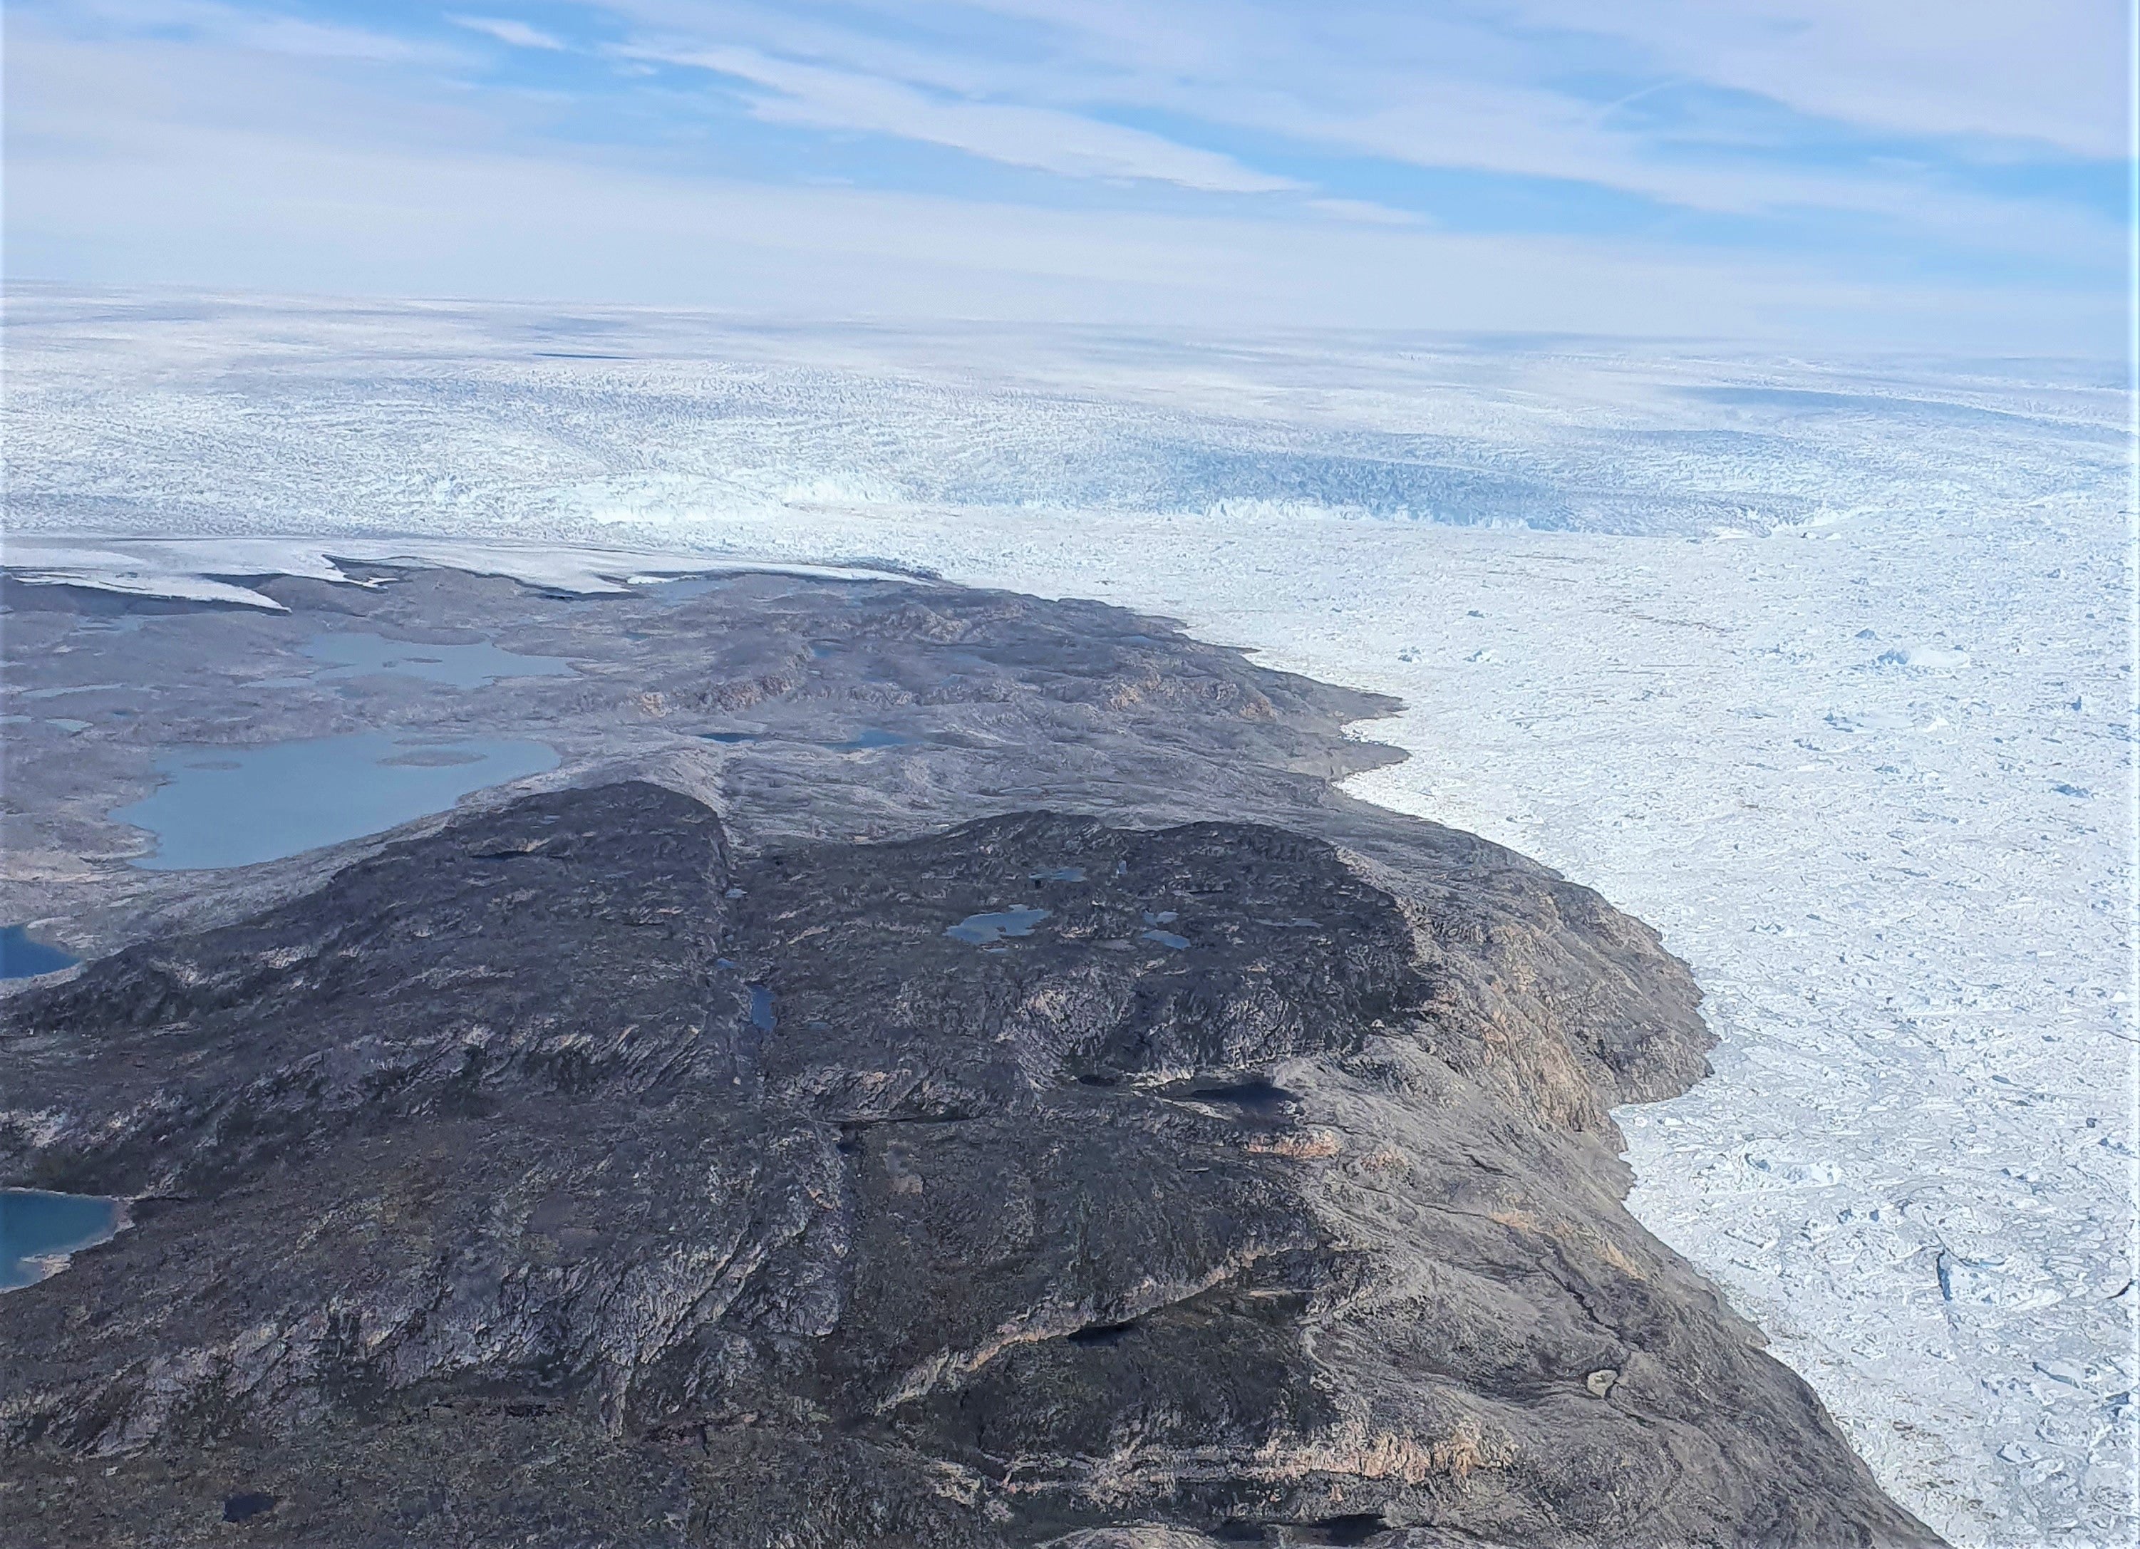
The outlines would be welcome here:
[[[807,317],[1449,327],[2074,349],[2116,295],[1868,285],[1658,244],[1081,212],[648,171],[297,60],[11,36],[15,278]],[[559,212],[569,212],[561,220]]]

